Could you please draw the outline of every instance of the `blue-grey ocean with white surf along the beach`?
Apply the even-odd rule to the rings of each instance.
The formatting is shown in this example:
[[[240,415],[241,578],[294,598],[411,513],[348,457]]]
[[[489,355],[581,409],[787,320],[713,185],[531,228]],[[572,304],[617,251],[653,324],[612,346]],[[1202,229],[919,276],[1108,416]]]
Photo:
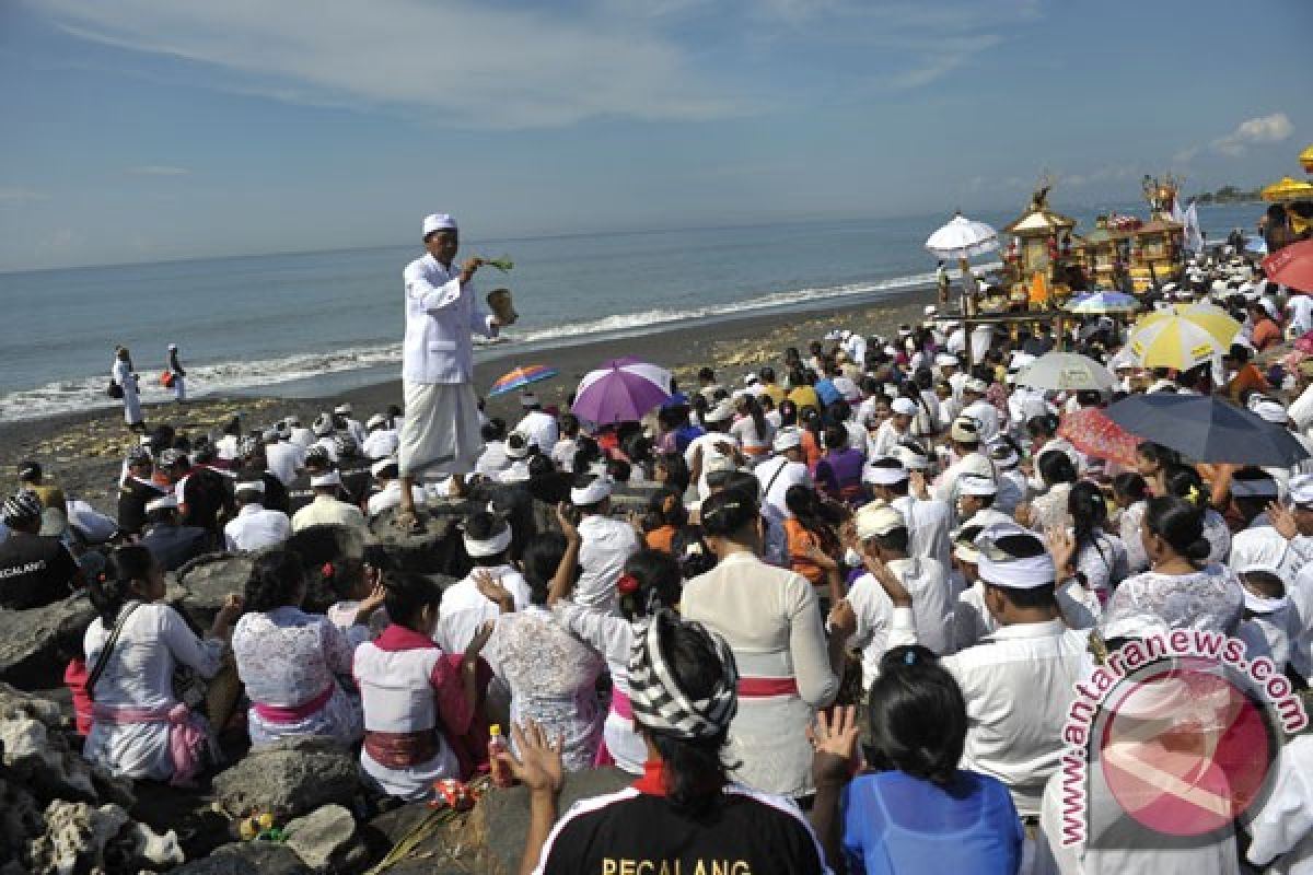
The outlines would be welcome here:
[[[1054,205],[1088,231],[1109,209]],[[1200,207],[1211,240],[1253,230],[1257,205]],[[972,218],[1002,227],[1016,210]],[[582,340],[670,331],[689,320],[815,311],[874,302],[934,279],[922,248],[948,215],[722,228],[479,239],[461,257],[509,256],[515,269],[479,272],[507,286],[520,321],[481,357]],[[400,273],[419,244],[236,256],[0,274],[0,420],[117,404],[105,395],[113,349],[133,353],[146,401],[176,342],[193,396],[324,395],[399,375]],[[987,260],[986,260],[987,261]],[[550,357],[538,356],[546,363]]]

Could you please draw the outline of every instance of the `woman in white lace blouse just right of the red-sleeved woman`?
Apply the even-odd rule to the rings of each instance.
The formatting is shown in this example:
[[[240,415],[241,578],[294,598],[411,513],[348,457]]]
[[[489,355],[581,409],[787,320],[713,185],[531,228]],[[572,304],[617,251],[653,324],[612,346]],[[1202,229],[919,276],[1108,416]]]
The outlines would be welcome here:
[[[555,533],[534,535],[524,548],[524,579],[529,606],[511,613],[509,593],[490,575],[478,575],[481,592],[498,602],[503,613],[487,645],[487,660],[511,689],[511,722],[534,720],[565,743],[566,769],[590,769],[601,741],[603,715],[597,706],[597,676],[605,668],[601,656],[571,635],[548,610],[548,593],[557,569],[576,565],[578,539],[569,542]],[[574,556],[570,556],[574,554]]]

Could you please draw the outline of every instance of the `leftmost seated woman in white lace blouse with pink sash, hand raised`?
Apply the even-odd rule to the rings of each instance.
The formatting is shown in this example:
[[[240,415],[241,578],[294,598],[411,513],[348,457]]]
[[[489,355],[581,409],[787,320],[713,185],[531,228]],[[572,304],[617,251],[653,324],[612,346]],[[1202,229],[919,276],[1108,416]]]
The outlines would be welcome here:
[[[164,586],[163,569],[140,544],[116,550],[89,584],[100,615],[83,641],[95,699],[83,753],[116,775],[185,786],[215,748],[205,718],[173,697],[173,669],[214,677],[242,602],[230,596],[201,640],[176,610],[155,603]]]

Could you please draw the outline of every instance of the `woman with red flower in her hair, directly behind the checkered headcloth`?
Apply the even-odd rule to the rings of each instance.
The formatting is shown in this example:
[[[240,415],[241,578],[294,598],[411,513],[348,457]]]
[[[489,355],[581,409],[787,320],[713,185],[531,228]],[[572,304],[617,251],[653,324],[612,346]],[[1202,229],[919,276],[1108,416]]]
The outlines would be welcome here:
[[[611,711],[603,724],[604,746],[599,749],[597,765],[611,765],[635,775],[643,773],[647,745],[634,725],[634,711],[629,702],[629,656],[634,644],[634,628],[663,609],[679,605],[684,579],[679,561],[660,550],[639,550],[625,561],[625,572],[616,581],[620,593],[620,617],[569,600],[570,579],[558,579],[562,586],[550,596],[557,618],[570,632],[580,638],[607,660],[611,672]]]

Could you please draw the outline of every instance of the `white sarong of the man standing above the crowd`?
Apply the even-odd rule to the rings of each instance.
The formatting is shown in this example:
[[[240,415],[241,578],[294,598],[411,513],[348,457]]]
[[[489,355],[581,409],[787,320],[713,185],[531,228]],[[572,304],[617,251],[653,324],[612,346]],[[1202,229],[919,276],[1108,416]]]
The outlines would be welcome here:
[[[483,454],[479,401],[470,383],[402,380],[406,420],[397,447],[400,475],[418,480],[469,474]]]

